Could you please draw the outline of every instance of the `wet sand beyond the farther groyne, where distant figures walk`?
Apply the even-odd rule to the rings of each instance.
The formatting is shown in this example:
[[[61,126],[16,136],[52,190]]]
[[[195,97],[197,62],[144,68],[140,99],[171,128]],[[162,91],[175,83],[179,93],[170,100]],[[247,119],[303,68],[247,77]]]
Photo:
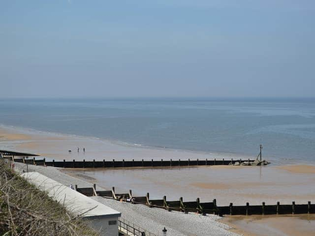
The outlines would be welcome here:
[[[130,145],[119,141],[102,140],[56,133],[39,132],[31,129],[0,126],[1,149],[39,154],[47,160],[188,160],[190,159],[231,159],[248,156],[232,153],[206,153],[168,148],[149,148]],[[80,148],[77,152],[77,148]],[[83,152],[85,148],[85,152]],[[72,150],[71,153],[68,150]]]

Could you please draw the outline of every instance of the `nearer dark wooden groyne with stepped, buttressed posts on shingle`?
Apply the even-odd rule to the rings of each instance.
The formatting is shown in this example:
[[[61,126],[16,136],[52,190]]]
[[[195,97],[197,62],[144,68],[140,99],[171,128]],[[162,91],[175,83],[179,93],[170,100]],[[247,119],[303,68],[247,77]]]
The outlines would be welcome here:
[[[132,195],[132,191],[127,193],[116,193],[115,188],[106,191],[97,191],[94,184],[91,188],[78,188],[75,185],[75,190],[86,196],[101,196],[104,198],[110,198],[118,201],[126,201],[132,204],[142,204],[148,207],[158,207],[169,211],[181,211],[181,212],[198,212],[200,214],[217,214],[217,215],[271,215],[271,214],[314,214],[315,204],[311,204],[309,201],[307,204],[292,204],[281,205],[277,202],[276,205],[265,205],[262,202],[261,205],[250,205],[246,203],[244,206],[234,206],[230,203],[229,206],[217,206],[217,200],[214,199],[211,202],[202,203],[197,198],[196,201],[184,202],[180,197],[178,201],[167,201],[166,196],[162,199],[150,199],[150,194],[146,196],[136,197]]]

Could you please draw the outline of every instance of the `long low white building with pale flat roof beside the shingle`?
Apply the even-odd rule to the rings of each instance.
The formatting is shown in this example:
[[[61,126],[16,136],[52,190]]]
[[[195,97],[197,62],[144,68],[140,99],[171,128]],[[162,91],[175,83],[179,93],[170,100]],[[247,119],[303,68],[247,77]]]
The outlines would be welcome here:
[[[54,200],[64,204],[73,214],[82,214],[101,235],[118,236],[118,218],[121,213],[37,172],[21,174]],[[91,209],[91,210],[89,210]]]

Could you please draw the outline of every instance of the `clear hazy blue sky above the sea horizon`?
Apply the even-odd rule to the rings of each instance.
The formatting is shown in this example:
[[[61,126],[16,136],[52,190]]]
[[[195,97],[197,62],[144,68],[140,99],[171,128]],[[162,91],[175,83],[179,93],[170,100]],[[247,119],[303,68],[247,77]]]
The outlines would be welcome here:
[[[315,95],[314,0],[0,0],[0,97]]]

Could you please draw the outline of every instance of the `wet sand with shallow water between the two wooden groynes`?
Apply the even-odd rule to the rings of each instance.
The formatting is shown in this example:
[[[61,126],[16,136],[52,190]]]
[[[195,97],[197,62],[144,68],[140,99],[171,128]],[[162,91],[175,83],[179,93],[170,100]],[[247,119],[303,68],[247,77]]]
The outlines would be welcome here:
[[[276,167],[195,167],[172,169],[67,170],[93,177],[97,185],[116,192],[129,189],[135,196],[150,193],[151,199],[202,202],[217,199],[219,206],[307,204],[315,202],[315,174],[292,174]],[[82,176],[81,176],[82,177]]]

